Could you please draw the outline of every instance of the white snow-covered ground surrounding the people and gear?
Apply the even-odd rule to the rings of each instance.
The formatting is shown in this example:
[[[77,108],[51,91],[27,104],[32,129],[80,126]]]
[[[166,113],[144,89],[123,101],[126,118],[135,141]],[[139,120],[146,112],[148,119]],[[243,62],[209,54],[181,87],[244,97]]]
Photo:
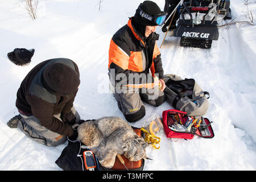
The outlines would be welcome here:
[[[75,107],[82,119],[122,117],[109,93],[108,49],[113,34],[133,16],[142,1],[39,0],[38,19],[32,20],[21,0],[0,3],[0,170],[62,170],[55,164],[67,143],[47,147],[28,139],[6,123],[18,114],[16,91],[27,73],[41,61],[55,57],[74,60],[81,85]],[[155,0],[163,10],[164,0]],[[255,1],[248,5],[256,16]],[[232,16],[247,20],[242,0],[231,1]],[[224,24],[228,20],[221,22]],[[164,34],[160,27],[158,46]],[[256,27],[234,24],[219,28],[211,49],[184,48],[179,38],[167,37],[162,48],[165,73],[195,78],[210,93],[205,117],[213,121],[215,137],[169,140],[162,136],[159,150],[148,148],[144,170],[251,170],[256,169]],[[34,48],[30,65],[18,67],[7,58],[14,48]],[[164,102],[146,105],[141,127],[152,114],[162,116],[173,107]],[[171,154],[170,148],[175,148]],[[173,157],[176,155],[176,159]]]

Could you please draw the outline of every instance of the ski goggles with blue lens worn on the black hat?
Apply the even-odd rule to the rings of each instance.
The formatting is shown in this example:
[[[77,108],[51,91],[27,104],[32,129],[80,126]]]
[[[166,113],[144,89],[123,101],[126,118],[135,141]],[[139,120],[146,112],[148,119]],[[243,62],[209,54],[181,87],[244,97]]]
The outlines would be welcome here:
[[[154,23],[156,23],[159,26],[162,26],[162,24],[164,23],[164,20],[166,20],[166,16],[167,16],[167,13],[165,13],[164,11],[162,13],[160,13],[160,14],[149,15],[149,14],[145,13],[141,9],[141,7],[138,7],[138,13],[143,18],[146,18],[147,20],[150,20],[151,22],[154,22]]]

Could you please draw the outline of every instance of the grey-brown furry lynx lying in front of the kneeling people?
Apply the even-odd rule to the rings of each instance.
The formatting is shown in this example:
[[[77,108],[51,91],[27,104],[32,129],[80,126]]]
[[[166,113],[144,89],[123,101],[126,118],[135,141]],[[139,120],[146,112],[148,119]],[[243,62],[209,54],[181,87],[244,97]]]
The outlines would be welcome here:
[[[118,154],[125,155],[130,161],[146,158],[148,144],[122,118],[104,117],[84,122],[77,131],[77,139],[92,148],[100,164],[106,168],[114,166]]]

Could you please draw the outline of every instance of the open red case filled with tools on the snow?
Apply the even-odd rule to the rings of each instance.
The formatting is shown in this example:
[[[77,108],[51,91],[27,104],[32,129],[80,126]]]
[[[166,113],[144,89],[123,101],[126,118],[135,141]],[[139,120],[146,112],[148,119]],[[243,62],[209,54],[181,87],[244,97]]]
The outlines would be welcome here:
[[[185,126],[188,122],[187,113],[175,109],[163,111],[163,126],[167,138],[184,138],[193,139],[195,135],[203,138],[213,138],[214,133],[208,118],[203,118],[200,126],[192,126],[189,131],[177,131],[174,129],[174,123],[178,122],[180,125]]]

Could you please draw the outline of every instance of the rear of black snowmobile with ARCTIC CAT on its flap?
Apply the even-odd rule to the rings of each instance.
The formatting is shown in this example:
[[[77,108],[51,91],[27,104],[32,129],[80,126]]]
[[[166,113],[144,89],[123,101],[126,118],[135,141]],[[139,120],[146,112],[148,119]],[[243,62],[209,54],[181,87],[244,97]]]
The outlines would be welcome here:
[[[180,46],[209,49],[218,40],[218,22],[231,19],[229,0],[190,0],[177,7],[174,36]]]

